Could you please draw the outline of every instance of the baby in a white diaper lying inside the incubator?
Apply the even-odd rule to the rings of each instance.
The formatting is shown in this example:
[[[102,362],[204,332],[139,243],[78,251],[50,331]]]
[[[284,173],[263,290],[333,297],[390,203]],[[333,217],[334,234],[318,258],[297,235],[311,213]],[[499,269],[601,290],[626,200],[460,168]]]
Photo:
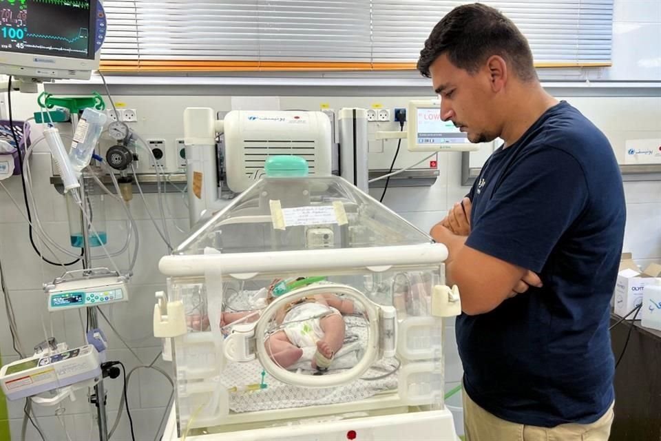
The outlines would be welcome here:
[[[269,287],[267,302],[274,300],[274,287],[281,282],[280,279],[273,281]],[[300,360],[303,355],[302,348],[316,346],[312,367],[325,371],[344,343],[345,325],[342,314],[355,313],[357,308],[353,301],[335,294],[318,294],[290,302],[275,314],[274,320],[280,329],[266,338],[266,352],[273,362],[287,369]],[[254,313],[224,312],[220,326],[230,325],[251,314]],[[259,316],[253,315],[245,321],[255,321],[258,318]]]

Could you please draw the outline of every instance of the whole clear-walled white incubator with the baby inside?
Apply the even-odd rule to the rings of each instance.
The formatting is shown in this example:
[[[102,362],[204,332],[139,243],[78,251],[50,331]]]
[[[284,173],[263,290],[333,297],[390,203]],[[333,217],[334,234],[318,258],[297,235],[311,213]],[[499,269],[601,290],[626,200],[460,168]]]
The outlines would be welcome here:
[[[154,334],[176,374],[163,440],[456,441],[445,258],[343,178],[262,178],[160,260]]]

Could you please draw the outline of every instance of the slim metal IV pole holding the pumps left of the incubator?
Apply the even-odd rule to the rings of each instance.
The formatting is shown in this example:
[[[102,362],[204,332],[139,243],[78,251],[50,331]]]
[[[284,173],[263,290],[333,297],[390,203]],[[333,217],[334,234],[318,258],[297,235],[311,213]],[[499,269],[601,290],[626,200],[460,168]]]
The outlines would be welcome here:
[[[76,125],[78,125],[78,115],[71,115],[71,122],[74,126],[74,133],[76,132]],[[83,213],[87,213],[89,209],[89,200],[87,195],[87,187],[85,186],[85,173],[81,174],[81,201],[83,211],[81,212],[81,232],[83,232],[83,269],[92,268],[92,250],[90,249],[90,230],[87,220]],[[90,216],[91,217],[91,216]],[[90,329],[98,328],[98,317],[96,315],[96,307],[87,308],[87,320],[90,323]],[[90,402],[96,405],[96,416],[98,419],[98,440],[108,441],[108,424],[107,415],[105,411],[105,388],[103,387],[103,373],[101,379],[94,386],[94,396],[90,397]]]

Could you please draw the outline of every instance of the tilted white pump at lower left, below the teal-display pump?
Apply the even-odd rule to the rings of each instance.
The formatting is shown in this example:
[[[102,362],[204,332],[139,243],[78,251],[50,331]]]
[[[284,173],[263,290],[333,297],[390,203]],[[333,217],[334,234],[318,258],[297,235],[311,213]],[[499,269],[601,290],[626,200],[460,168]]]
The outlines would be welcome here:
[[[101,378],[101,359],[93,345],[68,349],[65,343],[61,343],[54,351],[45,349],[0,369],[0,387],[10,400],[76,384],[76,388],[60,394],[59,398],[63,399],[72,396],[74,389],[94,386],[95,378]],[[88,380],[92,380],[92,384]],[[39,404],[50,404],[48,398],[45,400]]]

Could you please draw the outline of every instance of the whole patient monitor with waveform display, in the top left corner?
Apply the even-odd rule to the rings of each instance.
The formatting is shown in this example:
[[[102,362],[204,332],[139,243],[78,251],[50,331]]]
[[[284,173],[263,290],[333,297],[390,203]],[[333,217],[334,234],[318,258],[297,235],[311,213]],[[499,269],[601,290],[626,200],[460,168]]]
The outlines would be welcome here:
[[[34,85],[30,92],[43,80],[89,79],[105,33],[99,0],[3,3],[0,73]]]

